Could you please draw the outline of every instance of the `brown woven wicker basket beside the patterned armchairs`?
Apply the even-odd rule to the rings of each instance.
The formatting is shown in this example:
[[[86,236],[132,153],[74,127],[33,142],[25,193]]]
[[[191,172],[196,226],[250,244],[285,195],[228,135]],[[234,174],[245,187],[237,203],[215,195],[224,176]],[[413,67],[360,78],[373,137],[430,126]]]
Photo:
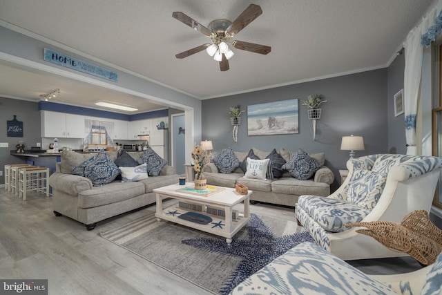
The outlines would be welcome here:
[[[350,223],[347,227],[365,227],[356,231],[371,236],[392,251],[409,254],[423,265],[434,263],[442,251],[442,231],[430,221],[425,210],[412,211],[401,224],[372,221]]]

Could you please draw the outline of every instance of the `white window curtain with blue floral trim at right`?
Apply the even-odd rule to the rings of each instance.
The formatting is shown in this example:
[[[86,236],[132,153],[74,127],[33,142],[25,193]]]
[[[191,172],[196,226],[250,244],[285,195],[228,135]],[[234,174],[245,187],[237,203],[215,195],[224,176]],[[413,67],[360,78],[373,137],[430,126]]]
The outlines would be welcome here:
[[[421,91],[423,45],[430,46],[442,28],[442,0],[423,16],[421,23],[413,28],[404,42],[405,73],[403,99],[405,113],[405,141],[407,155],[416,155],[416,113]]]

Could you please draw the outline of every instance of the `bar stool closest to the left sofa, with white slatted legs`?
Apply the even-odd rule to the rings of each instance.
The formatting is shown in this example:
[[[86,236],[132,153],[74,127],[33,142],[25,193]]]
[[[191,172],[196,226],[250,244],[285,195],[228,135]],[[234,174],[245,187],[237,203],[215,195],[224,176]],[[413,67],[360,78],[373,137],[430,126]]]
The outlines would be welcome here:
[[[40,191],[49,196],[49,168],[24,167],[19,169],[19,198],[26,201],[28,191]]]

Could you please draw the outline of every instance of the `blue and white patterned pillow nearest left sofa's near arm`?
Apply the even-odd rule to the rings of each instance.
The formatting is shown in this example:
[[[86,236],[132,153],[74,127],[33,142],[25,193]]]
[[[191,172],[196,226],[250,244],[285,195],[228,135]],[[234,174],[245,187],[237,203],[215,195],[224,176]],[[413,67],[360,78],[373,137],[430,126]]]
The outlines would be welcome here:
[[[108,158],[104,151],[100,151],[92,158],[73,166],[71,170],[75,175],[88,178],[94,187],[112,182],[120,172],[118,166],[111,158]]]

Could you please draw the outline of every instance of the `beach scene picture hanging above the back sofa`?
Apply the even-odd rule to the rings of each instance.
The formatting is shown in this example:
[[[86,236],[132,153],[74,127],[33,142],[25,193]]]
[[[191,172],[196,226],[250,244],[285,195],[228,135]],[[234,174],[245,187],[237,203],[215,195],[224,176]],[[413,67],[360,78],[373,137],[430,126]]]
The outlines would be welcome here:
[[[299,133],[298,99],[247,106],[247,135]]]

